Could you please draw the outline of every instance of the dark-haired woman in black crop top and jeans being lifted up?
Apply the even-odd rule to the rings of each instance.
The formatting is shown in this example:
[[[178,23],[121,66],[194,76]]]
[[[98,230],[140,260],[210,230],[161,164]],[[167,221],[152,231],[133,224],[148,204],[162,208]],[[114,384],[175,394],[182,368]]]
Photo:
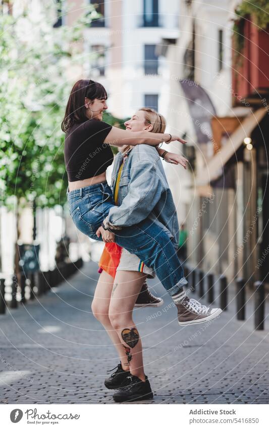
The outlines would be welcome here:
[[[105,178],[105,171],[114,158],[110,145],[157,146],[163,141],[185,143],[185,140],[177,135],[123,130],[106,124],[102,121],[102,113],[107,109],[106,99],[101,84],[79,80],[68,100],[62,129],[66,132],[70,215],[76,227],[91,239],[102,240],[96,235],[100,225],[104,241],[113,234],[111,230],[117,231],[115,242],[154,269],[177,306],[179,324],[207,321],[213,318],[213,313],[205,314],[204,306],[197,301],[193,305],[183,290],[187,280],[164,226],[149,218],[131,226],[122,223],[121,216],[117,216],[119,208],[115,207],[112,189]],[[186,167],[185,158],[176,157]],[[144,199],[147,204],[147,195]]]

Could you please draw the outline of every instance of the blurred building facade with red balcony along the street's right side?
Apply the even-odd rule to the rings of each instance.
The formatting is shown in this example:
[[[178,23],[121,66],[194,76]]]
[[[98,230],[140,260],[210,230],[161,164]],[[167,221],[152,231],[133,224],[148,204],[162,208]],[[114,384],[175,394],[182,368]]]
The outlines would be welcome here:
[[[168,115],[173,132],[187,135],[192,169],[167,174],[187,223],[189,263],[252,285],[268,279],[269,40],[248,18],[244,51],[236,52],[239,3],[180,3],[180,37],[166,52]]]

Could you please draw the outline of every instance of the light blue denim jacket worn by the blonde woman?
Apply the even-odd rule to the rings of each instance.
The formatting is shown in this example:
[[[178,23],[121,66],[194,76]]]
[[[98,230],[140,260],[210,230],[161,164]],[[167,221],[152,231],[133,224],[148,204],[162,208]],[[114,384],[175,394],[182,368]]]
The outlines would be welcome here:
[[[112,188],[122,162],[114,159]],[[110,209],[107,220],[115,226],[131,226],[149,218],[162,224],[175,248],[178,248],[179,224],[176,207],[168,185],[162,160],[156,149],[137,145],[129,153],[119,183],[118,206]]]

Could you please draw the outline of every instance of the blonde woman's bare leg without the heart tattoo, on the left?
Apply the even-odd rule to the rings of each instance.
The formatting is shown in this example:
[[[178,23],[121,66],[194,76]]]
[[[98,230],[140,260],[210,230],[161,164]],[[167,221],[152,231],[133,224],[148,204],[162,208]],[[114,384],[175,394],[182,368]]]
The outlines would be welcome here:
[[[114,278],[105,271],[102,271],[95,289],[91,308],[94,317],[96,317],[96,319],[103,325],[107,335],[109,335],[112,343],[116,347],[122,368],[125,371],[129,371],[129,365],[126,365],[126,355],[121,345],[121,340],[119,339],[118,333],[112,326],[109,318],[109,306],[113,283]]]

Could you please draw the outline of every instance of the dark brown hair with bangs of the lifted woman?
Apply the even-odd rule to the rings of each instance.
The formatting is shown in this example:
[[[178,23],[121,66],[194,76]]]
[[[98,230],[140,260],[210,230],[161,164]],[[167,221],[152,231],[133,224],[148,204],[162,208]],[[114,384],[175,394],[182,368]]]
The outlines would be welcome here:
[[[107,93],[103,85],[94,80],[81,79],[73,86],[67,106],[62,130],[66,132],[75,123],[86,121],[85,97],[93,101],[95,99],[107,99]]]

